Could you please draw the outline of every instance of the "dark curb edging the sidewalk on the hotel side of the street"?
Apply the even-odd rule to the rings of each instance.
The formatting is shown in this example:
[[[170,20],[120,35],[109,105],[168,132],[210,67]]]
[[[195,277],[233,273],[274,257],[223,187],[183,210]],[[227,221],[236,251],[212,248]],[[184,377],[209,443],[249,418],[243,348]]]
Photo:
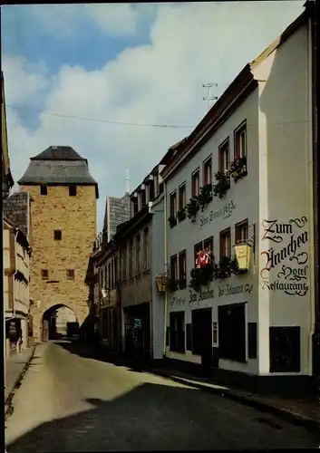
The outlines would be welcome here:
[[[179,378],[176,376],[172,376],[166,372],[161,371],[154,371],[150,369],[152,374],[157,374],[163,378],[170,379],[171,381],[179,382],[180,384],[189,385],[189,387],[194,387],[199,390],[208,391],[209,393],[213,393],[215,395],[228,398],[229,400],[235,400],[242,404],[246,404],[251,408],[258,409],[264,412],[269,412],[271,414],[276,414],[282,419],[286,419],[290,423],[295,425],[303,426],[306,429],[312,429],[318,431],[320,429],[320,422],[315,419],[310,419],[300,414],[296,414],[294,412],[290,412],[283,408],[277,408],[271,404],[267,404],[267,402],[262,402],[258,400],[250,399],[246,396],[238,395],[237,393],[233,392],[232,390],[222,390],[222,389],[214,389],[213,387],[208,387],[206,385],[199,384],[197,382],[191,382],[189,380]]]

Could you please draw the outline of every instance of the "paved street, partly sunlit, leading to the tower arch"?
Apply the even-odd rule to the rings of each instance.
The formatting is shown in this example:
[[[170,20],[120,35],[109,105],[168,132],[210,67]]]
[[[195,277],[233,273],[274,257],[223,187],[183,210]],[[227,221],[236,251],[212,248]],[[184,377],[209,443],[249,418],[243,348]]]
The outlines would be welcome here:
[[[72,352],[71,352],[72,351]],[[240,403],[74,353],[37,347],[5,429],[8,453],[315,448],[315,434]]]

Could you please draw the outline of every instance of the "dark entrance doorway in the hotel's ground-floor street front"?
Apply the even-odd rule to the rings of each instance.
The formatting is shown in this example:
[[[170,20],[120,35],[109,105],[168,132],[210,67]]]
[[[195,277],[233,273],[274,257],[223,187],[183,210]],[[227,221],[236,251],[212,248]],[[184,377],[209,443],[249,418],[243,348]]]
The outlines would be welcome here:
[[[192,353],[201,356],[201,374],[210,375],[212,367],[211,308],[192,310]]]

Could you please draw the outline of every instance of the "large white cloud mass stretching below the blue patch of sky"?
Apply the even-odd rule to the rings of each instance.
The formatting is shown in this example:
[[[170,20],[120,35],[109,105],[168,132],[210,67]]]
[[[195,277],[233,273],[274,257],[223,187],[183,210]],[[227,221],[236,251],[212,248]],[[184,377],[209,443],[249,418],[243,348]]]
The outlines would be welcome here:
[[[30,78],[30,68],[21,60],[10,60],[5,66],[6,101],[24,99],[27,83],[36,97],[37,86],[50,82],[44,111],[100,120],[196,125],[207,110],[201,84],[218,82],[215,94],[220,95],[242,67],[302,13],[303,3],[158,5],[150,45],[124,50],[100,71],[64,66],[44,82],[44,72],[34,72],[34,79]],[[39,127],[31,132],[16,111],[8,110],[7,115],[15,179],[21,178],[29,157],[51,144],[71,145],[89,159],[92,176],[100,185],[100,227],[106,195],[121,196],[125,191],[126,168],[134,189],[170,145],[191,131],[42,114]]]

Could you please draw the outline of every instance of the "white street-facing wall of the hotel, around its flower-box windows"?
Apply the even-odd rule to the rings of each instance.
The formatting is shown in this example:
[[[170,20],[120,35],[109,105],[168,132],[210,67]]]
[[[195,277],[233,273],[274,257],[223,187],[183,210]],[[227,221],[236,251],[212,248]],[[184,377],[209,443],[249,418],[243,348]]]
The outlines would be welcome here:
[[[191,174],[198,167],[200,168],[200,187],[202,186],[202,162],[212,154],[212,174],[218,171],[218,147],[229,137],[230,160],[234,159],[234,136],[233,132],[238,126],[247,120],[247,176],[237,183],[231,178],[231,187],[223,199],[214,198],[203,213],[197,214],[195,223],[186,218],[177,226],[170,228],[168,222],[168,262],[170,256],[179,254],[187,249],[187,285],[189,284],[189,272],[194,267],[194,246],[201,240],[214,236],[214,255],[219,261],[219,232],[231,226],[231,246],[235,244],[235,224],[248,218],[249,236],[253,235],[254,226],[258,222],[258,125],[257,125],[257,90],[252,92],[246,101],[235,111],[232,116],[221,126],[221,128],[208,140],[202,149],[183,165],[167,181],[167,217],[169,217],[170,193],[179,188],[179,185],[186,181],[186,201],[191,197]],[[224,214],[225,207],[233,202],[235,208],[231,208],[230,216]],[[201,226],[200,217],[208,217],[210,211],[216,212],[222,208],[219,217],[215,217],[208,224]],[[225,217],[225,218],[224,218]],[[234,255],[234,252],[232,251]],[[253,256],[252,256],[253,259]],[[226,284],[233,286],[243,285],[243,293],[221,295],[221,289],[226,289]],[[213,281],[208,284],[206,291],[213,290],[214,297],[206,300],[190,302],[189,288],[168,294],[168,312],[186,311],[185,323],[191,323],[191,310],[198,308],[212,307],[212,322],[218,321],[218,305],[247,302],[247,322],[257,322],[257,263],[252,265],[246,275],[232,275],[222,282]],[[194,294],[194,292],[193,292]],[[219,295],[220,294],[220,295]],[[168,313],[167,325],[170,323]],[[170,353],[172,355],[172,353]],[[177,355],[177,354],[174,354]],[[181,354],[179,354],[181,355]],[[189,356],[189,361],[199,362],[199,357]],[[219,361],[219,367],[247,372],[257,372],[257,360],[249,359],[246,363],[236,361]]]

